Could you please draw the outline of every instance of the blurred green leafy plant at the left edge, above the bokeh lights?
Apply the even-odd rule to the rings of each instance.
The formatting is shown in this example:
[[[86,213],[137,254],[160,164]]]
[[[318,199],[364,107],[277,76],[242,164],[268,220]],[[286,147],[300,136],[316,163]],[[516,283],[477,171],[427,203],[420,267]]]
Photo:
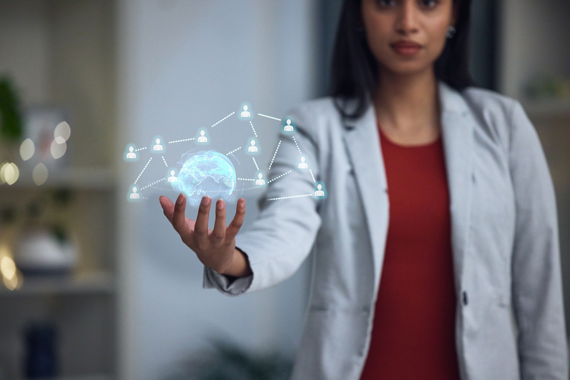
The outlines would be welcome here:
[[[0,139],[18,141],[22,137],[20,101],[11,81],[0,77]]]

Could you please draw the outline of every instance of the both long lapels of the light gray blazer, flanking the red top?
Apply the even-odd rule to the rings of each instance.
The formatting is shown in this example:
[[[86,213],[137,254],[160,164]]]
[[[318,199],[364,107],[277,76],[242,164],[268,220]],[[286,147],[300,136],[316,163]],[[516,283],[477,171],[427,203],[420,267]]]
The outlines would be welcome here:
[[[450,194],[455,288],[459,294],[471,212],[475,120],[462,96],[442,81],[438,82],[438,94]],[[370,105],[360,119],[353,122],[345,121],[344,125],[347,129],[344,141],[355,171],[370,232],[374,260],[374,289],[378,289],[388,233],[389,201],[374,107]]]

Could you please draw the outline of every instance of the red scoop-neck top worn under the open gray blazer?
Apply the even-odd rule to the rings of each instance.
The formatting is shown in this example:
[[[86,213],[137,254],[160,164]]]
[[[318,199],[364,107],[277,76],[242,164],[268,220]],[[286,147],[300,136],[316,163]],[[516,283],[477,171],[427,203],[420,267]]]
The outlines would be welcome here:
[[[459,379],[442,140],[402,146],[380,130],[380,142],[390,219],[361,380]]]

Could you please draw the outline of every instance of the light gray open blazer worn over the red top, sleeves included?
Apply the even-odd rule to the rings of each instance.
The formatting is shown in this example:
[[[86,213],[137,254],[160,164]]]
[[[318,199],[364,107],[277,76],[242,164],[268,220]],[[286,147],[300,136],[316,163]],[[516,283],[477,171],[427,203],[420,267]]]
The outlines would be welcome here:
[[[450,190],[463,380],[568,379],[556,201],[538,136],[520,103],[438,83]],[[315,251],[292,379],[356,380],[367,357],[382,272],[388,207],[376,116],[341,119],[330,98],[291,114],[260,201],[237,236],[253,275],[231,282],[209,268],[205,288],[239,295],[291,276]],[[306,157],[315,180],[297,169]]]

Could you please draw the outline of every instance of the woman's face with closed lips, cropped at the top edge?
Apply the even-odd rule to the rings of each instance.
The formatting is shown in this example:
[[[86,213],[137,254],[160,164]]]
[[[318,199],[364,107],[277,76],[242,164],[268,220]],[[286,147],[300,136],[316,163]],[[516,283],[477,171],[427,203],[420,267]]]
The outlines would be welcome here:
[[[398,74],[433,66],[454,24],[453,0],[362,0],[362,13],[380,69]]]

